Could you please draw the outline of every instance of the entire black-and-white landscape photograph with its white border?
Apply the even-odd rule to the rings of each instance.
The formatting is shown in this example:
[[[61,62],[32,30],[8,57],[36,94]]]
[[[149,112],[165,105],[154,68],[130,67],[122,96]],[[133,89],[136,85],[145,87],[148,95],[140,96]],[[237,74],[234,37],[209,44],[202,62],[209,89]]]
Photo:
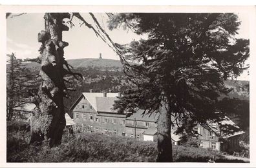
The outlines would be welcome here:
[[[253,162],[255,6],[101,7],[3,10],[6,165]]]

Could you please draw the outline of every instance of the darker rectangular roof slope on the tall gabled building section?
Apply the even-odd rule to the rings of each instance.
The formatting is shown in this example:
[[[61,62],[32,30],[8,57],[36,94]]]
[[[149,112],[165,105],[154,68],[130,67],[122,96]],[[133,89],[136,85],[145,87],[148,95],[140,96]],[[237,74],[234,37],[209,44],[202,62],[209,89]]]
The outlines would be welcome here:
[[[118,111],[113,109],[113,104],[115,100],[118,100],[118,98],[117,97],[96,97],[97,111],[118,113]]]

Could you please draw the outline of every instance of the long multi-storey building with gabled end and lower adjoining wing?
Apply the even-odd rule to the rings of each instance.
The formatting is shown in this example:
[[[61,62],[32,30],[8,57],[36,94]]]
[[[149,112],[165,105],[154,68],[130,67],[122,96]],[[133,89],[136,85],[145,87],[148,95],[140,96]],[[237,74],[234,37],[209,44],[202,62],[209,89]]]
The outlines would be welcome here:
[[[120,93],[82,93],[70,107],[76,127],[79,129],[129,136],[144,140],[143,133],[156,127],[158,114],[118,113],[112,105]]]

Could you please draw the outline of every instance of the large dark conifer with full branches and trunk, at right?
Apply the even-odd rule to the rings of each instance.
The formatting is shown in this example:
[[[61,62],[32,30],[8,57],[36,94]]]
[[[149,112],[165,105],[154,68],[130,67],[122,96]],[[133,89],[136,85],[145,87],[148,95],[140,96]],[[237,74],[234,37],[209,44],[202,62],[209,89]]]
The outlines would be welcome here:
[[[125,73],[135,87],[128,89],[115,108],[160,113],[157,162],[172,162],[171,125],[176,122],[220,122],[220,95],[229,89],[224,80],[236,78],[249,57],[249,41],[235,39],[235,14],[116,14],[109,28],[125,23],[148,39],[123,47]],[[120,47],[121,48],[121,47]],[[218,113],[217,113],[218,112]],[[171,116],[175,120],[171,120]],[[180,129],[185,129],[181,126]]]

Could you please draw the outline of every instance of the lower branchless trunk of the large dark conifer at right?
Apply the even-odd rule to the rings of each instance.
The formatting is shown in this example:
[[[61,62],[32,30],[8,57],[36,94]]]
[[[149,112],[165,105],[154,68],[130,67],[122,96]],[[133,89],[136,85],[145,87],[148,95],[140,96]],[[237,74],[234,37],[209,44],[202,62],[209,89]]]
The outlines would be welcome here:
[[[173,149],[171,144],[171,111],[169,106],[162,102],[157,122],[157,148],[156,162],[173,162]]]

